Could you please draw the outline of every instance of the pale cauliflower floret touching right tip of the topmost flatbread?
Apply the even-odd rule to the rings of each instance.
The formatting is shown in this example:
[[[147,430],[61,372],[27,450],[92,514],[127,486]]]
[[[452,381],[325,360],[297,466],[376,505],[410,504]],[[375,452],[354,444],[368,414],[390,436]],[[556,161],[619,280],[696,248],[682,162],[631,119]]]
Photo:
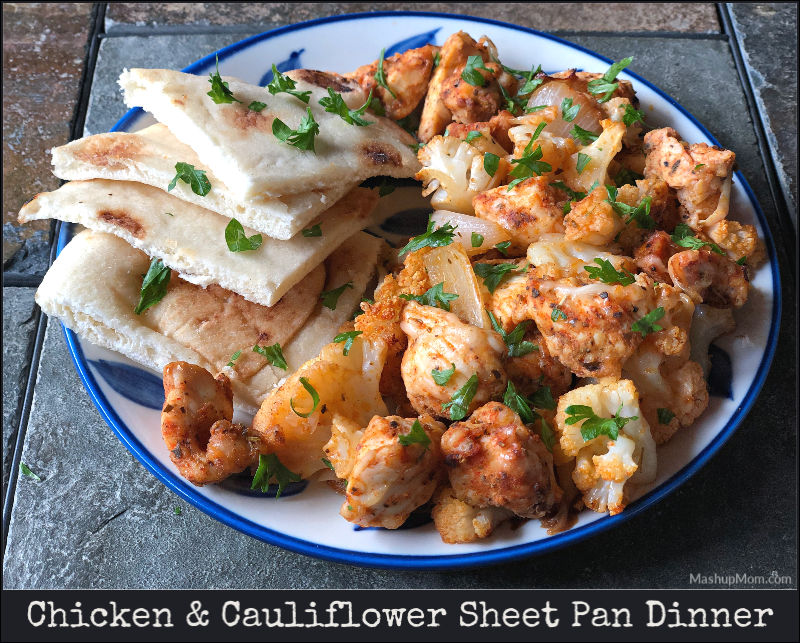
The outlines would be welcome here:
[[[484,167],[484,155],[501,157],[494,176]],[[433,194],[431,205],[442,210],[473,214],[472,199],[501,184],[505,177],[502,157],[505,150],[494,141],[481,137],[472,143],[436,136],[418,154],[422,169],[416,179],[425,184],[423,196]]]

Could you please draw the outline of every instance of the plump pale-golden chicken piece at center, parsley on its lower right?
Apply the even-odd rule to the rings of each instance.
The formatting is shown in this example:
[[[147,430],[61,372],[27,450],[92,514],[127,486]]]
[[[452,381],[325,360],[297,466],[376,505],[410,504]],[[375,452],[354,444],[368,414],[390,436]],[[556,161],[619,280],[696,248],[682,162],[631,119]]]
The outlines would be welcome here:
[[[454,313],[415,301],[403,309],[400,326],[409,339],[401,365],[403,382],[418,413],[460,419],[454,416],[456,409],[443,405],[451,402],[473,375],[477,376],[477,388],[467,401],[466,415],[490,399],[502,397],[507,382],[503,367],[507,349],[496,332],[465,324]],[[437,384],[431,371],[446,371],[453,366],[455,372],[447,383]]]

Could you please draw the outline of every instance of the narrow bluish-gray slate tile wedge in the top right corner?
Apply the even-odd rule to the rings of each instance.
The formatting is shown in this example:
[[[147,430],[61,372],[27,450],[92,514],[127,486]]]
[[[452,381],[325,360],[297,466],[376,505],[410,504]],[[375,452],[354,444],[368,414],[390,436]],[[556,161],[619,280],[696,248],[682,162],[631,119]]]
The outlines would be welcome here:
[[[797,4],[731,3],[779,179],[797,227]]]

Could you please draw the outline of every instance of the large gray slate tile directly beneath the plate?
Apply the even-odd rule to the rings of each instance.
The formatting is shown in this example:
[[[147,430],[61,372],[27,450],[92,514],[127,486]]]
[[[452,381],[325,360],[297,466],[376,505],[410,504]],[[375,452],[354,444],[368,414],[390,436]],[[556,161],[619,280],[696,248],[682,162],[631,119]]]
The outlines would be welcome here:
[[[634,71],[700,115],[724,145],[736,149],[767,216],[774,217],[724,42],[572,39],[613,58],[634,55]],[[146,46],[140,38],[109,38],[93,92],[93,131],[121,115],[121,107],[98,102],[112,93],[118,73],[107,72],[107,65],[137,57],[163,60],[187,45],[196,58],[221,44],[226,43],[216,36],[201,35],[149,38]],[[679,57],[693,61],[692,74],[664,62]],[[788,266],[782,268],[788,274]],[[785,284],[785,290],[792,287]],[[750,414],[720,452],[670,497],[566,550],[487,569],[422,573],[361,569],[292,554],[186,506],[104,424],[72,367],[60,329],[51,322],[23,453],[46,479],[24,479],[19,485],[4,586],[645,588],[684,587],[690,573],[769,575],[772,570],[796,579],[797,499],[787,485],[796,451],[788,410],[796,382],[795,323],[794,307],[787,305],[776,361]],[[55,440],[53,426],[59,427]],[[182,507],[180,516],[175,506]],[[187,551],[193,564],[176,564]]]

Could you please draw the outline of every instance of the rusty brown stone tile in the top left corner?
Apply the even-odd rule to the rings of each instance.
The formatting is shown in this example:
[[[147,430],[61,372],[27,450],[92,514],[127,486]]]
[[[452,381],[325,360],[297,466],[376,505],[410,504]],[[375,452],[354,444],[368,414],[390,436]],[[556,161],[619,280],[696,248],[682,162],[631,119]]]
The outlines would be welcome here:
[[[21,226],[19,208],[59,181],[49,149],[69,141],[91,3],[3,4],[3,269],[47,270],[48,221]]]

